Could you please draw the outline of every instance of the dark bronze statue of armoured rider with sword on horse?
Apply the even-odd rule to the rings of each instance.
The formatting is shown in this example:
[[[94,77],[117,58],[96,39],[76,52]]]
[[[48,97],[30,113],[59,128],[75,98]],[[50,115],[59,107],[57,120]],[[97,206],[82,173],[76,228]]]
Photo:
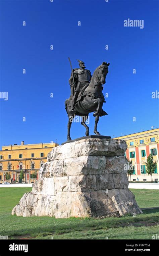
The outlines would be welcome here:
[[[69,59],[70,61],[70,59]],[[86,128],[86,136],[89,135],[89,127],[86,125],[89,113],[94,112],[95,127],[94,133],[100,135],[97,131],[99,117],[107,115],[102,109],[104,95],[102,93],[105,78],[108,73],[109,63],[103,62],[91,76],[90,70],[85,69],[85,63],[78,60],[80,68],[72,69],[69,84],[71,95],[65,100],[65,109],[68,114],[67,140],[71,140],[70,128],[75,116],[82,117],[81,124]]]

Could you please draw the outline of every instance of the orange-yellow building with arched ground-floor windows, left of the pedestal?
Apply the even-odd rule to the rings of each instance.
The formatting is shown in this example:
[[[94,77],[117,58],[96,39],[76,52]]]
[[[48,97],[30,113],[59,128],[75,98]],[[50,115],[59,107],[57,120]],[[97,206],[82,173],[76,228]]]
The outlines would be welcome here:
[[[24,145],[24,141],[21,145],[3,146],[0,151],[0,183],[6,181],[6,172],[11,176],[9,182],[21,183],[21,170],[24,171],[23,181],[33,183],[35,179],[32,176],[37,173],[38,179],[39,169],[47,161],[47,154],[56,146],[58,144],[54,142]]]

